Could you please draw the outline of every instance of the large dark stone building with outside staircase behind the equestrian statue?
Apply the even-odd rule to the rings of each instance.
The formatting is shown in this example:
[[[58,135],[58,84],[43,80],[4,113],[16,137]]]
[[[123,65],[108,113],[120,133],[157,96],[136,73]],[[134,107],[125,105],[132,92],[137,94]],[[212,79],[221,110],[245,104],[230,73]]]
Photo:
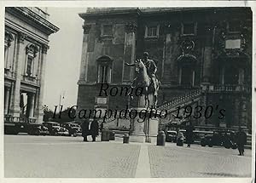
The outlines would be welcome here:
[[[147,51],[161,81],[158,109],[168,111],[161,123],[174,120],[178,106],[180,113],[191,106],[188,119],[195,125],[250,128],[250,8],[108,8],[79,16],[84,19],[79,109],[128,105],[127,96],[99,96],[101,83],[131,84],[134,69],[124,63]],[[201,117],[195,117],[197,110]]]

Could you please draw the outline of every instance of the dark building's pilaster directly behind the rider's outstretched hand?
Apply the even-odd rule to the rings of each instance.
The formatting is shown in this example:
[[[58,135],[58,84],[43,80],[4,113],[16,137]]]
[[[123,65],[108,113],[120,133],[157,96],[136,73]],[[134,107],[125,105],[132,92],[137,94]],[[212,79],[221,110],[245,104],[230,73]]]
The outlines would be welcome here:
[[[125,25],[125,48],[124,48],[124,61],[131,64],[135,60],[136,37],[135,32],[137,25],[135,23],[128,23]],[[123,82],[131,81],[134,75],[134,69],[130,66],[123,64]]]

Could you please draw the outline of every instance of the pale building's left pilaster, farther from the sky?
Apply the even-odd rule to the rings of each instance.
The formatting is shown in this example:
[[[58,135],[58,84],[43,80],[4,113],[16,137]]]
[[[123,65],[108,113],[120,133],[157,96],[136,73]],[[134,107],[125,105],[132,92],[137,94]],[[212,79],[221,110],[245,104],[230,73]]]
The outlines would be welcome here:
[[[26,35],[18,33],[18,43],[15,55],[15,86],[12,94],[10,114],[14,117],[20,117],[20,80],[22,72],[22,63],[25,61],[26,49],[24,45]]]

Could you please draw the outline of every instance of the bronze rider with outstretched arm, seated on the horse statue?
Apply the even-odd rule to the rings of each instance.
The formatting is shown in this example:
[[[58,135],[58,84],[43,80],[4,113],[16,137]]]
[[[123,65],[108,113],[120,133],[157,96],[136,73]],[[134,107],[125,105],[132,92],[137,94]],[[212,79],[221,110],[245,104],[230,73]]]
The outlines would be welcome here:
[[[157,90],[157,84],[156,84],[156,71],[157,71],[157,66],[154,64],[154,60],[150,60],[148,58],[148,52],[144,52],[143,53],[143,59],[142,59],[144,65],[147,68],[147,72],[148,72],[148,77],[150,77],[151,82],[153,84],[154,87],[154,91]],[[135,66],[135,64],[128,64],[125,63],[126,66]],[[132,81],[132,88],[135,88],[137,86],[137,77]]]

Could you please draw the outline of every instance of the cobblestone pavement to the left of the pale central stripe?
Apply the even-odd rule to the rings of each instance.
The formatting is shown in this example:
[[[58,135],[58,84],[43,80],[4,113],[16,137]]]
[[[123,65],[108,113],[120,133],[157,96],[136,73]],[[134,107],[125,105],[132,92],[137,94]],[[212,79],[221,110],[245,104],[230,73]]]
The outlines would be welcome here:
[[[81,137],[4,136],[5,177],[134,177],[138,145]]]

